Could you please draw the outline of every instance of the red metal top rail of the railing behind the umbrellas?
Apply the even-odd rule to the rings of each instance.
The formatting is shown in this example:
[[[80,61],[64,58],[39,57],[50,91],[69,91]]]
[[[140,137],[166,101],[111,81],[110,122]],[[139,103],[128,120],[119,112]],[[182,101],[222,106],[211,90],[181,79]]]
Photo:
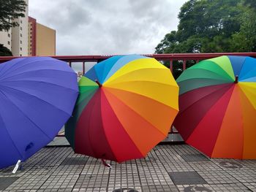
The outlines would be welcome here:
[[[189,60],[194,60],[196,62],[207,59],[214,58],[222,55],[239,55],[239,56],[251,56],[256,58],[256,53],[171,53],[171,54],[143,54],[145,56],[156,58],[158,61],[169,61],[170,70],[173,71],[173,61],[183,61],[183,69],[186,69],[186,63]],[[114,55],[58,55],[51,56],[52,58],[57,58],[61,61],[66,61],[69,66],[72,63],[80,62],[83,65],[83,73],[85,72],[86,62],[99,62]],[[12,58],[17,57],[0,57],[0,64],[5,61],[10,61]]]

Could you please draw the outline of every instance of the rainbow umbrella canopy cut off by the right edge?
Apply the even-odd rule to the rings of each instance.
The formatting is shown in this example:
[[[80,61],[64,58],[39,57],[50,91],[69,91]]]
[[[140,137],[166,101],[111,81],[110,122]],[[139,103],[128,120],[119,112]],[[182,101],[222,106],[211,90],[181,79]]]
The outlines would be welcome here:
[[[256,59],[222,56],[178,77],[184,140],[215,158],[256,158]]]

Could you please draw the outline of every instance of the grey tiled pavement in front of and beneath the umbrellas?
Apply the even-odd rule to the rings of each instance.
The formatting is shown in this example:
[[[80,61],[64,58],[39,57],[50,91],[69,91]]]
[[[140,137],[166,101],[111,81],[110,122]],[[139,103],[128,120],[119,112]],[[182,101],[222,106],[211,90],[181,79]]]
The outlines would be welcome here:
[[[12,174],[0,169],[0,191],[256,191],[256,161],[208,159],[188,145],[158,145],[146,158],[117,164],[45,147]]]

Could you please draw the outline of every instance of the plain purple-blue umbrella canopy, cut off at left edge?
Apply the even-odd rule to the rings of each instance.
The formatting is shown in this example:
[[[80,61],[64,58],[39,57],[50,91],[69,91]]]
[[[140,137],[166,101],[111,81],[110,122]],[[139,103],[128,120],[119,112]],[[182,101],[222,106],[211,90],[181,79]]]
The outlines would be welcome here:
[[[33,57],[0,64],[0,169],[47,145],[77,96],[76,74],[63,61]]]

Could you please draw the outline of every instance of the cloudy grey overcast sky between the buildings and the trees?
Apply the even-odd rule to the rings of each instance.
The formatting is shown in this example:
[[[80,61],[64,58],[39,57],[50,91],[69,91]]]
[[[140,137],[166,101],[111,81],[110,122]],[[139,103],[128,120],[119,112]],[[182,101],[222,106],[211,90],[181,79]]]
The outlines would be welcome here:
[[[56,29],[56,55],[154,53],[185,1],[29,0],[29,16]]]

